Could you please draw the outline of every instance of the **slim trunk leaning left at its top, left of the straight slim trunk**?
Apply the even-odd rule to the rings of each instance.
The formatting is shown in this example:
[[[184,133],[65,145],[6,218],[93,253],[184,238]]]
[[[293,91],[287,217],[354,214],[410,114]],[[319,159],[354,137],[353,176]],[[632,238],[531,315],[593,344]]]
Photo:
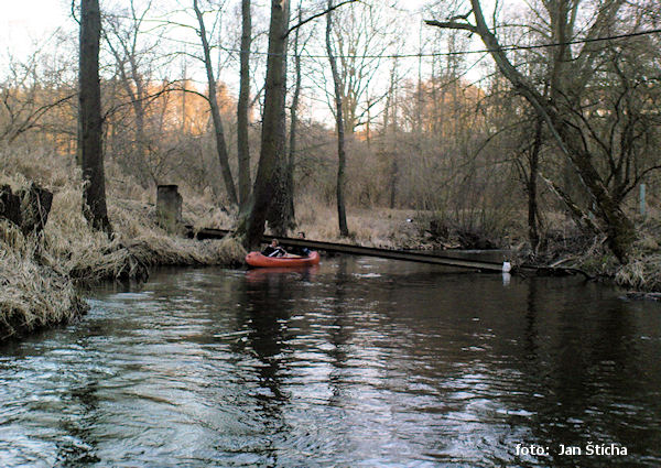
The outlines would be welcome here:
[[[193,9],[197,17],[199,24],[199,39],[202,40],[202,50],[204,53],[204,66],[207,75],[207,85],[209,87],[209,107],[212,109],[212,120],[214,122],[214,134],[216,137],[216,151],[218,152],[218,162],[220,163],[220,171],[223,172],[223,179],[225,182],[225,189],[227,196],[232,205],[238,205],[237,192],[234,185],[234,178],[231,176],[231,170],[229,168],[229,159],[227,156],[227,145],[225,143],[225,131],[223,130],[223,120],[220,120],[220,109],[218,108],[218,98],[216,95],[216,78],[214,78],[214,66],[212,63],[212,55],[209,50],[209,42],[206,35],[206,28],[204,25],[204,18],[197,6],[197,0],[193,0]]]

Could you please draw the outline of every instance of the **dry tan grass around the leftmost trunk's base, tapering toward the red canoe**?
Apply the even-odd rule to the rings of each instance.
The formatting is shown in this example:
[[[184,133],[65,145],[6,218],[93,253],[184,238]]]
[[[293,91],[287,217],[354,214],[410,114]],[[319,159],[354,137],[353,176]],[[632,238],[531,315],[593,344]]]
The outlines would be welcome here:
[[[55,196],[44,239],[51,264],[76,280],[144,279],[156,265],[232,264],[246,254],[236,240],[199,242],[170,236],[156,226],[151,206],[113,198],[109,216],[116,236],[109,241],[89,229],[80,199],[79,187]]]

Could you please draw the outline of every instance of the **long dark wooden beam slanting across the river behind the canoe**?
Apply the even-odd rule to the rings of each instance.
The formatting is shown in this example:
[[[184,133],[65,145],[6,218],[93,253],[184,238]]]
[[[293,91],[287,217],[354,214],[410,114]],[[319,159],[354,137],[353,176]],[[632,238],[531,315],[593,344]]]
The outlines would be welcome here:
[[[188,237],[203,239],[221,239],[231,231],[228,229],[201,229],[194,231],[192,227],[187,227]],[[452,257],[434,255],[423,252],[410,252],[403,250],[391,250],[391,249],[379,249],[375,247],[361,247],[351,246],[348,243],[336,243],[336,242],[323,242],[318,240],[310,239],[294,239],[280,236],[264,235],[262,242],[270,242],[273,238],[277,238],[281,246],[284,247],[307,247],[312,250],[324,250],[326,252],[345,253],[351,255],[365,255],[365,257],[378,257],[381,259],[390,260],[404,260],[408,262],[429,263],[443,266],[454,266],[460,269],[470,269],[485,272],[502,272],[502,263],[488,262],[481,260],[467,260],[467,259],[455,259]],[[532,266],[519,268],[519,271],[535,271]]]

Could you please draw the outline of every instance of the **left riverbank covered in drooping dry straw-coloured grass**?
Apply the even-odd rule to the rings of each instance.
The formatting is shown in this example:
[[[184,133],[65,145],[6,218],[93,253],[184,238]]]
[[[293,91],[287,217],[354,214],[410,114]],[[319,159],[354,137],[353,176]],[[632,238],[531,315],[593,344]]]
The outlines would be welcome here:
[[[7,178],[20,187],[21,177]],[[51,186],[53,189],[53,187]],[[112,239],[93,231],[82,215],[82,189],[54,187],[45,229],[24,236],[0,221],[0,341],[66,323],[87,311],[82,289],[91,283],[144,281],[160,265],[230,265],[245,249],[234,239],[195,241],[159,228],[153,206],[109,197]],[[188,207],[186,221],[208,222],[213,208]],[[205,218],[206,216],[206,218]]]

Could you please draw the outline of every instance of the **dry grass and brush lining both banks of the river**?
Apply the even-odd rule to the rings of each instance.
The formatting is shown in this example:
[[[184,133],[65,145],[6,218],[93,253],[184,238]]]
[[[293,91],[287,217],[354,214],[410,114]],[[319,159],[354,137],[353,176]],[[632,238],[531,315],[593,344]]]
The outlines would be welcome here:
[[[54,199],[40,235],[25,236],[10,221],[0,220],[0,340],[84,314],[87,305],[82,291],[94,282],[142,281],[149,269],[158,265],[230,265],[242,261],[246,250],[232,238],[196,241],[162,230],[155,219],[154,194],[138,184],[111,182],[108,200],[115,235],[108,239],[93,230],[82,215],[82,187],[73,162],[44,156],[13,153],[1,159],[0,185],[18,189],[36,179],[54,192]],[[50,161],[47,167],[43,161]],[[343,240],[330,206],[304,197],[297,213],[299,228],[308,238]],[[579,268],[627,289],[661,291],[661,221],[655,216],[640,220],[635,253],[629,263],[621,265],[604,246],[604,239],[583,235],[571,220],[563,222],[560,218],[553,222],[555,230],[546,232],[540,253],[531,255],[520,235],[524,226],[495,214],[488,220],[462,226],[438,213],[351,213],[349,225],[360,228],[350,233],[349,240],[364,246],[509,249],[519,263]],[[184,218],[196,228],[231,228],[236,224],[236,217],[204,196],[184,197]]]

